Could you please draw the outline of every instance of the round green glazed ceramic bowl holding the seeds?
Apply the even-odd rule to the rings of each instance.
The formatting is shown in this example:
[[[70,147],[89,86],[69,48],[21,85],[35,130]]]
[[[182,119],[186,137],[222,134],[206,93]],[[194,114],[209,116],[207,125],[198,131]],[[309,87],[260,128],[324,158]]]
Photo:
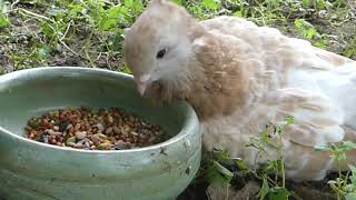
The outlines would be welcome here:
[[[171,138],[130,150],[88,151],[23,138],[27,121],[66,107],[118,107]],[[199,121],[186,102],[154,106],[131,76],[101,69],[47,67],[0,77],[0,197],[12,199],[175,199],[195,177]]]

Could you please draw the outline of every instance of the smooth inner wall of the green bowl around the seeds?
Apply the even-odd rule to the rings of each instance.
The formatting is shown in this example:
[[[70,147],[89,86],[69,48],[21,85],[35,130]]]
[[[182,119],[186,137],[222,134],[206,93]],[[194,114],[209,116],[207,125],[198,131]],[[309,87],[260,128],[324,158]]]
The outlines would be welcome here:
[[[37,68],[0,77],[0,127],[24,136],[31,117],[66,107],[117,107],[177,134],[187,106],[157,106],[140,98],[130,76],[89,68]]]

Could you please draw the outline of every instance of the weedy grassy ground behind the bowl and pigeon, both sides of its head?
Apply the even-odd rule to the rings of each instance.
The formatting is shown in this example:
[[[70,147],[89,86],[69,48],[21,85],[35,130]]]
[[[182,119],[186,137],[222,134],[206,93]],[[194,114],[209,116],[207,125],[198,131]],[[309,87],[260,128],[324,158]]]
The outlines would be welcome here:
[[[346,0],[175,0],[199,19],[221,14],[309,40],[314,46],[356,58],[355,8]],[[125,71],[123,29],[146,0],[1,1],[0,49],[7,69],[89,66]],[[10,38],[10,39],[9,39]],[[22,38],[16,42],[13,38]],[[41,50],[46,47],[44,52]],[[37,50],[39,49],[39,50]],[[42,48],[43,49],[43,48]]]

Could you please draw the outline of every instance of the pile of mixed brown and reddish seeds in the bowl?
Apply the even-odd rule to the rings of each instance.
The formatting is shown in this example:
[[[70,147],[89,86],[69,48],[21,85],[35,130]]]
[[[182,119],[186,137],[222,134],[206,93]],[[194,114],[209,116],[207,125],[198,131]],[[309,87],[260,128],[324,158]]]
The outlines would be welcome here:
[[[53,110],[32,118],[26,127],[29,139],[86,150],[121,150],[147,147],[166,140],[151,124],[117,108]]]

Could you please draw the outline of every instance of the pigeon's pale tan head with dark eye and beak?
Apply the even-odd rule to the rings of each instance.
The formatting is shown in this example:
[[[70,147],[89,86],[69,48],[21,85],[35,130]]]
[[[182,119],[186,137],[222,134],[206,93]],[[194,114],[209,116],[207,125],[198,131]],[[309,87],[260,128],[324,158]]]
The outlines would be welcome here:
[[[125,60],[141,96],[152,83],[172,82],[191,53],[189,13],[167,0],[152,0],[126,31]]]

